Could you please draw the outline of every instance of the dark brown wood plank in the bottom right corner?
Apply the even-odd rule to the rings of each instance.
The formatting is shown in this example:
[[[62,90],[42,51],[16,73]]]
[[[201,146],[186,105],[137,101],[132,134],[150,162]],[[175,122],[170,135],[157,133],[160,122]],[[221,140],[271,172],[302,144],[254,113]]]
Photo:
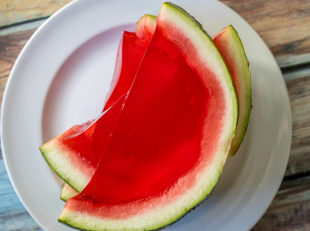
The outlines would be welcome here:
[[[310,176],[283,181],[252,231],[310,230]]]

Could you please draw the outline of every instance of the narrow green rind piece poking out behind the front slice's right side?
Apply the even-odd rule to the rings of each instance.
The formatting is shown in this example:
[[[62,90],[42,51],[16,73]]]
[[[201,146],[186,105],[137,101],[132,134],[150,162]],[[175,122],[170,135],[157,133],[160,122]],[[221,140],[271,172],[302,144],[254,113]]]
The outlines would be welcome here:
[[[223,53],[228,67],[231,71],[233,70],[232,77],[238,92],[239,118],[236,135],[232,139],[228,152],[229,158],[238,151],[249,124],[252,109],[251,71],[241,39],[232,25],[224,28],[212,38]]]

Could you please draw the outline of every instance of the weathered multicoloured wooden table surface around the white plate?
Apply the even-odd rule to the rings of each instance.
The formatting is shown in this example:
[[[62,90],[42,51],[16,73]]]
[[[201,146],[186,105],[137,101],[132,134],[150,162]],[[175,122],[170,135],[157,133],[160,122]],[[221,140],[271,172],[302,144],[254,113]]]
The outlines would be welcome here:
[[[221,1],[241,15],[272,51],[283,73],[292,110],[292,146],[285,176],[267,212],[252,230],[310,230],[310,1]],[[0,102],[25,43],[68,2],[0,1]],[[35,225],[15,194],[0,153],[0,230],[33,230]]]

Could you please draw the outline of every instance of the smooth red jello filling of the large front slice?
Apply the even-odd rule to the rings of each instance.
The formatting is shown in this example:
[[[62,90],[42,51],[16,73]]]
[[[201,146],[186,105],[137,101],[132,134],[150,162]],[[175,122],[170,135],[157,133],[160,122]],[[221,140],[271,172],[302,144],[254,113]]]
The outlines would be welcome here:
[[[186,57],[156,29],[103,158],[73,199],[105,206],[164,194],[200,157],[208,98]]]

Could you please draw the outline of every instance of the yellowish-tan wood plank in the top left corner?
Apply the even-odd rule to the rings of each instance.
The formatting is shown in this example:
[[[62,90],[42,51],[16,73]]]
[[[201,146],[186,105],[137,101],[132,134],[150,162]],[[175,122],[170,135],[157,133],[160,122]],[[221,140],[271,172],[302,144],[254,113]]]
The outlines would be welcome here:
[[[0,4],[0,27],[52,15],[72,0],[4,0]]]

